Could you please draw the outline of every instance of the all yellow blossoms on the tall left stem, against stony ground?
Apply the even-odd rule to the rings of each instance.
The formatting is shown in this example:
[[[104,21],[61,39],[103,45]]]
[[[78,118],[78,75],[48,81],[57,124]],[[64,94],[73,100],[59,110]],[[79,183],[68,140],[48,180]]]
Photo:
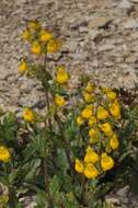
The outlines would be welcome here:
[[[58,38],[55,38],[53,33],[44,28],[38,21],[28,22],[26,30],[23,31],[22,33],[22,38],[25,42],[30,43],[30,51],[32,54],[44,58],[44,65],[45,65],[48,54],[57,53],[61,46],[61,41]],[[45,66],[43,67],[45,71],[46,70]],[[44,71],[38,71],[38,70],[41,70],[39,66],[36,66],[36,65],[32,66],[30,61],[27,61],[26,58],[21,59],[21,62],[19,66],[19,71],[21,73],[26,73],[26,74],[35,73],[35,74],[43,76]],[[50,71],[47,71],[47,74],[50,74],[51,77],[50,81],[53,85],[56,86],[55,90],[50,92],[53,94],[54,103],[58,107],[65,106],[66,97],[62,95],[61,89],[64,85],[68,83],[69,73],[67,72],[65,66],[58,66],[54,78]],[[43,77],[45,77],[45,72]],[[23,118],[24,120],[28,123],[32,123],[34,120],[34,115],[30,108],[24,109]]]

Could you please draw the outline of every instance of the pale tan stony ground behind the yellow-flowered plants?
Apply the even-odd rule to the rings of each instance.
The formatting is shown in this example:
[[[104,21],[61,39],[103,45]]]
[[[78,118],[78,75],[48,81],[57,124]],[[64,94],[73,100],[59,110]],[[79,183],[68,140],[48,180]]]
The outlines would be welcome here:
[[[65,39],[61,50],[67,55],[58,60],[59,53],[55,59],[67,66],[73,82],[80,73],[88,73],[108,86],[134,89],[138,84],[137,0],[1,0],[1,105],[36,106],[43,97],[34,81],[18,76],[19,60],[27,55],[20,35],[32,19]]]

